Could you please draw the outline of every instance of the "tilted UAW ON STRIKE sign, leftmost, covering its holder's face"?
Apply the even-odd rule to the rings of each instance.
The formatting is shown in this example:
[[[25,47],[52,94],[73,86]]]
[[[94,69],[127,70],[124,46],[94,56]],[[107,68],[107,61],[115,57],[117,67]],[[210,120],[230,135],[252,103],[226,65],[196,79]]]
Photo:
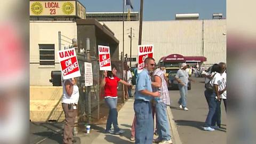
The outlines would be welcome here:
[[[75,48],[58,51],[63,79],[81,76]]]

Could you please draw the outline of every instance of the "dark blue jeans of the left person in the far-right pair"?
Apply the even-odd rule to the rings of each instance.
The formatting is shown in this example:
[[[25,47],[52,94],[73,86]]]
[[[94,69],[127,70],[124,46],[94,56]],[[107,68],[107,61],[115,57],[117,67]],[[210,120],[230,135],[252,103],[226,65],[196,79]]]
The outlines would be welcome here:
[[[215,96],[216,94],[214,92],[210,92],[208,90],[205,90],[204,91],[204,95],[205,95],[205,98],[206,98],[206,101],[208,103],[208,106],[209,106],[209,112],[208,112],[208,115],[206,117],[206,120],[205,120],[205,127],[209,127],[212,125],[212,119],[213,119],[213,116],[214,114],[218,111],[216,110],[217,109],[217,100],[215,99]]]

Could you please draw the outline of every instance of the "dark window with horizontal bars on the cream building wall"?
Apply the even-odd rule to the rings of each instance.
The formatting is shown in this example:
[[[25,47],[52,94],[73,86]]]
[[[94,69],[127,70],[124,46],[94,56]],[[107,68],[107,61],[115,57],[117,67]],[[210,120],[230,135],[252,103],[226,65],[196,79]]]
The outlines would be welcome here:
[[[54,44],[39,44],[39,65],[55,65]]]

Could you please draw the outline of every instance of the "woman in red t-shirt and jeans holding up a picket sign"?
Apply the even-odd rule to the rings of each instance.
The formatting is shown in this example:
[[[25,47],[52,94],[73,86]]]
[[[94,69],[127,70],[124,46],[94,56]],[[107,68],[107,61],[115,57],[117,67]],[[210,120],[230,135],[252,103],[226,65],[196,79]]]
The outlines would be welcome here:
[[[123,130],[119,129],[118,123],[117,123],[117,86],[118,83],[122,83],[124,85],[129,85],[131,84],[126,83],[122,79],[118,78],[116,76],[116,67],[112,65],[112,71],[105,71],[104,72],[104,77],[102,79],[101,86],[104,87],[105,91],[105,102],[107,103],[109,107],[109,114],[108,114],[108,120],[106,124],[106,133],[111,133],[111,134],[121,134],[124,133]],[[114,125],[114,131],[111,130],[111,125]]]

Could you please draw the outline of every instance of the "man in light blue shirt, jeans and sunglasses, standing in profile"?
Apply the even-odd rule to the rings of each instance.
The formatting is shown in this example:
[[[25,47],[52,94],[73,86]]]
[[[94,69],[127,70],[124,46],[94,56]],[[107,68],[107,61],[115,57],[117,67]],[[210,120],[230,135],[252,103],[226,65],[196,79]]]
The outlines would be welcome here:
[[[152,92],[149,71],[155,67],[153,58],[145,59],[145,67],[138,74],[136,94],[134,101],[134,111],[136,115],[135,143],[152,143],[154,136],[154,123],[150,100],[159,97],[159,92]]]

